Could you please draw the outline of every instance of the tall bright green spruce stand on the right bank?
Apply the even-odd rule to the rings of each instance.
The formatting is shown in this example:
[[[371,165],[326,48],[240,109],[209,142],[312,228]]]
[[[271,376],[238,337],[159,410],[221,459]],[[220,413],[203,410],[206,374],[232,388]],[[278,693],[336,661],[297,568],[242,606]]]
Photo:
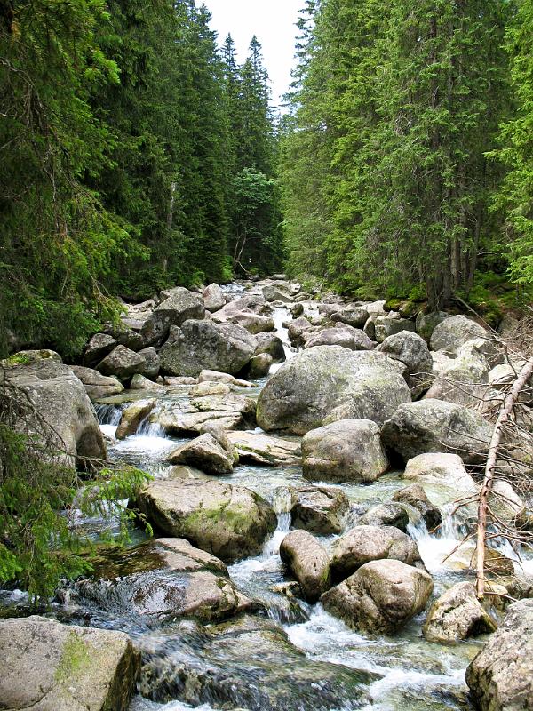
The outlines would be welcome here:
[[[510,4],[323,0],[311,7],[282,195],[294,272],[339,291],[468,292],[500,222],[488,165],[509,108]]]

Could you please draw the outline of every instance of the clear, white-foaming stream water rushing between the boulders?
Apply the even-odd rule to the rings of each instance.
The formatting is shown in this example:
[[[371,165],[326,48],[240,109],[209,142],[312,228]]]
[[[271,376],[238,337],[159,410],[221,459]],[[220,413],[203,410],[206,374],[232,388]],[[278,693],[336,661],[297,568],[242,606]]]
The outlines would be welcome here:
[[[238,296],[238,288],[232,289]],[[288,318],[287,308],[275,309],[276,331],[290,358],[295,351],[282,327]],[[258,392],[256,388],[247,395]],[[172,400],[182,402],[187,398],[187,390],[154,396],[161,399],[160,406]],[[99,422],[107,436],[114,437],[122,410],[123,403],[98,406]],[[111,459],[135,464],[155,477],[164,477],[169,468],[166,456],[183,441],[164,435],[159,425],[147,419],[136,435],[121,442],[114,441],[109,453]],[[247,708],[251,711],[282,708],[295,711],[356,708],[363,711],[458,711],[469,708],[465,667],[479,651],[481,640],[454,647],[428,643],[421,635],[423,616],[412,620],[394,636],[361,635],[324,611],[320,603],[310,605],[280,592],[279,586],[286,581],[279,546],[290,531],[289,487],[307,483],[300,467],[241,465],[223,480],[259,492],[270,500],[278,516],[277,529],[262,553],[229,567],[235,585],[244,595],[258,600],[267,611],[266,618],[257,619],[259,627],[262,625],[269,635],[266,647],[261,646],[260,630],[253,628],[250,620],[230,621],[226,627],[202,627],[187,620],[147,623],[133,615],[114,617],[98,606],[80,609],[69,603],[68,595],[61,605],[54,606],[53,613],[60,619],[123,629],[139,645],[145,662],[155,665],[158,674],[162,669],[168,674],[171,681],[156,694],[153,690],[145,694],[165,703],[139,695],[133,699],[130,711],[188,711],[193,707],[197,711]],[[404,485],[396,472],[372,485],[350,483],[340,488],[352,503],[351,520],[354,520],[362,507],[390,499]],[[411,522],[409,532],[417,540],[427,570],[434,576],[434,595],[440,595],[458,580],[466,579],[465,559],[469,554],[450,556],[462,536],[461,522],[457,516],[450,515],[446,491],[430,484],[425,488],[430,499],[443,507],[447,515],[438,534],[430,534],[420,521]],[[87,523],[88,532],[94,538],[106,527],[112,527],[113,519],[111,516],[107,521]],[[325,537],[322,542],[330,547],[336,538]],[[445,558],[448,560],[443,563]],[[533,569],[530,561],[525,564]],[[18,591],[9,595],[9,598],[0,598],[0,604],[25,603],[24,594]],[[202,692],[197,691],[200,687]],[[142,684],[140,691],[146,691]]]

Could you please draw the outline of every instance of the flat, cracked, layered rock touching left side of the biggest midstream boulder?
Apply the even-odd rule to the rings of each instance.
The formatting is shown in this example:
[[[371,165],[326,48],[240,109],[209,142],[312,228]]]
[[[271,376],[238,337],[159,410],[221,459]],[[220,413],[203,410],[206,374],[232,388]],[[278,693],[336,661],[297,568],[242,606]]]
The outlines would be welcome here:
[[[250,397],[215,395],[170,403],[155,412],[151,420],[158,422],[168,435],[194,435],[208,422],[226,430],[255,427],[255,410],[256,403]]]

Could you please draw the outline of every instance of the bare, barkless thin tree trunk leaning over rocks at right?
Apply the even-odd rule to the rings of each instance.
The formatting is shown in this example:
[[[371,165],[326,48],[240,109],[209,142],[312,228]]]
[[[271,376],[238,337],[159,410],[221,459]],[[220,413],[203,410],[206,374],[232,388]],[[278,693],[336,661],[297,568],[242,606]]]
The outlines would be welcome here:
[[[532,374],[533,358],[529,358],[529,361],[523,366],[518,378],[515,380],[509,395],[505,397],[502,403],[490,440],[489,457],[485,467],[485,477],[483,479],[483,485],[481,486],[478,507],[476,587],[477,596],[480,600],[482,600],[485,595],[485,543],[487,540],[489,493],[496,477],[497,456],[502,441],[502,434],[506,423],[513,415],[513,409],[521,391],[526,386]]]

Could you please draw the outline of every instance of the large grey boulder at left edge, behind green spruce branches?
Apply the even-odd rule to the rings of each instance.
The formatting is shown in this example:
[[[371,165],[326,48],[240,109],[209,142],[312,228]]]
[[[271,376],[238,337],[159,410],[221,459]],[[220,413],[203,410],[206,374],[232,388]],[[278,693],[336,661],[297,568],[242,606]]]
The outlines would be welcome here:
[[[68,365],[40,360],[17,365],[4,375],[34,408],[25,427],[44,441],[51,459],[79,468],[87,466],[87,459],[107,459],[91,400]]]

